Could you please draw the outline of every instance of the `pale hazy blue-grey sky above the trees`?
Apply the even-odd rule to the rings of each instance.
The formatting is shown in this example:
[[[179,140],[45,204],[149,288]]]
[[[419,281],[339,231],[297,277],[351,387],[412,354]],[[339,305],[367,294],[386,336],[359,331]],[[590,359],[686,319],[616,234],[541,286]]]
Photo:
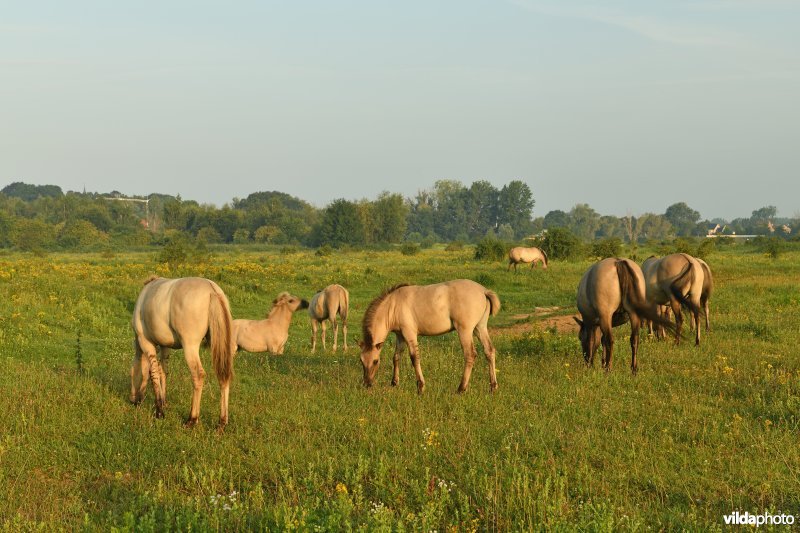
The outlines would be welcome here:
[[[800,1],[2,2],[0,187],[800,213]]]

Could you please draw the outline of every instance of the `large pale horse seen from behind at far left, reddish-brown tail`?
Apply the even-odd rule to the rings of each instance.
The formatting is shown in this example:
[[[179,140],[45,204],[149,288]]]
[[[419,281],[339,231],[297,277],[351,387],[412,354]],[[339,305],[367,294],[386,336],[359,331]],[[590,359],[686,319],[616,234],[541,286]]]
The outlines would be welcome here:
[[[185,425],[197,424],[206,376],[200,361],[200,343],[208,339],[211,362],[220,386],[219,429],[224,429],[228,423],[234,347],[230,305],[222,289],[204,278],[153,276],[145,281],[136,299],[132,326],[136,354],[131,366],[131,402],[141,403],[147,382],[152,380],[156,418],[164,417],[167,375],[156,357],[156,350],[161,349],[161,360],[166,364],[170,349],[183,348],[194,385],[191,411]]]

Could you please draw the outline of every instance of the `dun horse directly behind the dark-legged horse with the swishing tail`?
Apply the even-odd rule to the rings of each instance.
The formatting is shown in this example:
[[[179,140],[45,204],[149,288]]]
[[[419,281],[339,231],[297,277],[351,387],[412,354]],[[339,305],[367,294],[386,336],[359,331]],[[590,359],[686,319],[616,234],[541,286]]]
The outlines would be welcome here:
[[[703,306],[704,271],[697,259],[689,254],[671,254],[647,264],[645,285],[647,300],[657,305],[669,305],[675,315],[675,344],[680,342],[683,315],[681,308],[692,314],[695,326],[695,346],[700,345],[700,314]],[[650,258],[648,258],[650,260]],[[710,296],[710,292],[709,292]]]

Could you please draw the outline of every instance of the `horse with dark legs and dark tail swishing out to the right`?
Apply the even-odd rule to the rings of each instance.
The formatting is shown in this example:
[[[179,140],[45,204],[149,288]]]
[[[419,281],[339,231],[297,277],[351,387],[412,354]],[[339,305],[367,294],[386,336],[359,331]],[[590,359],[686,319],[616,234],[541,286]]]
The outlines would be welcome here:
[[[654,305],[648,304],[644,275],[639,265],[630,259],[609,257],[589,267],[578,284],[577,304],[581,318],[573,318],[581,328],[578,337],[584,361],[589,366],[594,364],[598,334],[602,333],[603,368],[606,371],[611,369],[614,349],[612,328],[631,323],[631,372],[636,374],[641,320],[673,327],[659,316]]]

